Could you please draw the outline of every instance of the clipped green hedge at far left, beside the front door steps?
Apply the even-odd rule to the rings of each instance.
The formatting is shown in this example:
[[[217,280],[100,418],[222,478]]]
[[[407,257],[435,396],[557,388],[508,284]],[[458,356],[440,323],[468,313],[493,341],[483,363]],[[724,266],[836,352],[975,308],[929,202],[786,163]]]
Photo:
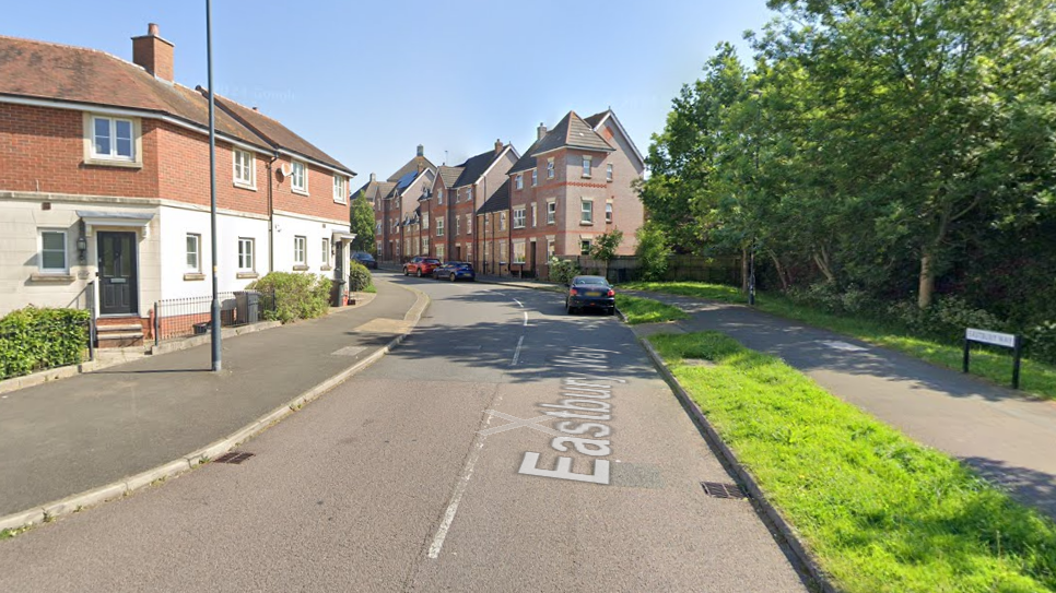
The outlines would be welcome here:
[[[87,311],[33,306],[0,318],[0,379],[82,361]]]

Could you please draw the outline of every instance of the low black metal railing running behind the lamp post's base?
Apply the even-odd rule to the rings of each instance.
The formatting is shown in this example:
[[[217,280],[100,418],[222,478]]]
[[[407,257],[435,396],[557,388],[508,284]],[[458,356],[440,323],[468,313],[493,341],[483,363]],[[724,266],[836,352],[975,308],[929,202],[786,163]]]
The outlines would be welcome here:
[[[154,343],[209,333],[211,307],[211,296],[159,300],[154,304]],[[269,319],[274,310],[274,290],[220,293],[220,324],[224,328]]]

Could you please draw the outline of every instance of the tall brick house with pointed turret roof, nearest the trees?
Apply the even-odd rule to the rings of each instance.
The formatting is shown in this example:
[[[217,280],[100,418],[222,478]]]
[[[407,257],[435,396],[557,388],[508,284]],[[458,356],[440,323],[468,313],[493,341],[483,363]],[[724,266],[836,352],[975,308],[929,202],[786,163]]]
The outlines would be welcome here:
[[[623,232],[619,254],[634,253],[645,210],[632,183],[645,161],[611,109],[588,118],[570,111],[508,171],[508,253],[514,273],[547,277],[551,256],[589,252],[597,236]],[[479,212],[498,217],[492,204]]]

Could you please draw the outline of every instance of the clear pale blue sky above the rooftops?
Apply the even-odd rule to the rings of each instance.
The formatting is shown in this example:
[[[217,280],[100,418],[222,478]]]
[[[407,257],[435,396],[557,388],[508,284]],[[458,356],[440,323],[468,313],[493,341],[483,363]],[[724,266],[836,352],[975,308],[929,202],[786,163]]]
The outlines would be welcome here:
[[[645,154],[671,99],[716,44],[743,40],[765,0],[502,2],[302,0],[212,7],[216,91],[278,119],[356,171],[387,178],[419,144],[457,165],[495,140],[523,153],[536,127],[612,108]],[[157,23],[175,78],[207,86],[204,0],[9,2],[0,35],[132,59]]]

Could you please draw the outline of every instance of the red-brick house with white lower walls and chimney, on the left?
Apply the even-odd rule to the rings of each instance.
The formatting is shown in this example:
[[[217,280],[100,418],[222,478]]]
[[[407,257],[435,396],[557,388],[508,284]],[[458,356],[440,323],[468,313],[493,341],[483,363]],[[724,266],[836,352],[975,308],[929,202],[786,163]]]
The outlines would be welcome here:
[[[208,91],[173,68],[153,24],[131,62],[0,36],[0,315],[91,303],[99,345],[130,345],[155,301],[210,294]],[[215,107],[220,289],[340,277],[355,174],[254,108]]]

